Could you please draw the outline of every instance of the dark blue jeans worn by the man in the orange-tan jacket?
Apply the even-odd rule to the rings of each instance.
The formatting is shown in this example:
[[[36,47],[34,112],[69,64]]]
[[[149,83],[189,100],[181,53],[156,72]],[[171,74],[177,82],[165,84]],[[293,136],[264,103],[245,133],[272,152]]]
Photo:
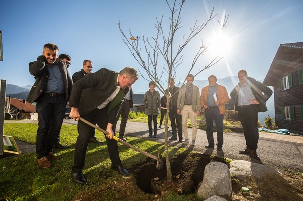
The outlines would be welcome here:
[[[205,109],[206,137],[210,146],[214,146],[213,123],[216,122],[217,128],[217,147],[223,145],[223,115],[220,114],[219,107]]]

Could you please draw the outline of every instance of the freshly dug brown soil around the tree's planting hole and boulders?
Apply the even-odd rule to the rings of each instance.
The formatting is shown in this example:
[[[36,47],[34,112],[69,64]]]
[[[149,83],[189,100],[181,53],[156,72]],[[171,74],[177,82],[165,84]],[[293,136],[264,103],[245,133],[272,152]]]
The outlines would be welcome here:
[[[203,153],[178,154],[171,159],[171,170],[173,183],[166,182],[166,165],[161,170],[156,169],[156,161],[146,159],[143,163],[137,164],[130,169],[134,178],[125,177],[125,181],[117,183],[121,186],[113,196],[113,200],[165,200],[168,192],[179,195],[188,194],[186,200],[197,200],[194,193],[203,180],[204,169],[212,161],[223,162],[229,166],[225,159],[213,157]],[[281,172],[281,170],[280,170]],[[241,181],[232,177],[232,197],[224,197],[226,200],[303,200],[303,183],[293,172],[283,171],[283,178],[291,184],[290,187],[281,186],[277,183],[251,179]],[[100,175],[102,176],[102,175]],[[105,175],[106,176],[106,175]],[[119,182],[119,181],[118,181]],[[121,182],[121,181],[120,181]],[[108,186],[111,188],[112,186]],[[241,188],[247,187],[249,193],[242,193]],[[99,200],[104,189],[81,196],[81,200]]]

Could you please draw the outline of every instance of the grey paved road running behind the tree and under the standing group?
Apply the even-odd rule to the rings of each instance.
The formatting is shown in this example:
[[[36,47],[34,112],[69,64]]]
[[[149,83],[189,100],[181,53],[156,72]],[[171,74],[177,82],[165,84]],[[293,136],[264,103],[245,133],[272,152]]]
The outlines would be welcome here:
[[[37,123],[37,121],[24,120],[25,122]],[[15,121],[15,122],[24,122]],[[8,121],[5,121],[8,122]],[[13,122],[13,121],[10,121]],[[64,120],[65,124],[77,124],[75,120]],[[120,121],[118,121],[117,129],[119,128]],[[119,130],[116,130],[117,132]],[[171,129],[169,126],[169,133]],[[157,141],[158,143],[164,143],[164,127],[158,128],[158,138],[148,138],[148,125],[147,123],[127,122],[126,136],[135,136],[144,138],[146,140]],[[169,134],[171,136],[171,134]],[[99,138],[99,137],[98,137]],[[216,143],[217,135],[214,133],[214,139]],[[189,140],[191,142],[191,129],[189,128]],[[240,133],[224,133],[223,151],[206,150],[207,138],[204,130],[198,130],[196,144],[193,147],[190,145],[182,145],[178,141],[169,141],[171,146],[186,147],[198,152],[206,152],[209,154],[217,154],[221,157],[232,158],[237,160],[246,160],[252,162],[259,162],[252,159],[247,155],[238,154],[239,150],[245,148],[245,138]],[[303,137],[302,136],[290,136],[279,135],[274,133],[259,133],[258,143],[258,155],[261,158],[261,163],[273,167],[275,169],[290,169],[298,172],[303,172]]]

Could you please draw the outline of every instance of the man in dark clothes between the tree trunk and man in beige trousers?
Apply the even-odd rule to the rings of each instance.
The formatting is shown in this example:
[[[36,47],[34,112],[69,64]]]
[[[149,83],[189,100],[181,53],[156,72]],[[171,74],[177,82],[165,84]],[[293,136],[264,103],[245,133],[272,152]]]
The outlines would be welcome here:
[[[175,80],[173,78],[169,79],[169,89],[166,91],[170,94],[170,104],[169,104],[169,119],[172,126],[172,137],[168,140],[177,140],[177,129],[179,142],[182,143],[183,133],[182,133],[182,124],[181,124],[181,115],[177,113],[177,101],[179,95],[179,87],[175,86]],[[176,126],[177,124],[177,126]]]

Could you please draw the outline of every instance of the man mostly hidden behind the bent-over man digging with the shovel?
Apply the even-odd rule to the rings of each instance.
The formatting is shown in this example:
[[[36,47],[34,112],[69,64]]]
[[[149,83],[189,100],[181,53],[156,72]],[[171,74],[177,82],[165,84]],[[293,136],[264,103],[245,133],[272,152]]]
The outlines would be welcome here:
[[[85,76],[89,75],[91,73],[91,71],[92,71],[92,66],[93,66],[93,63],[92,63],[91,60],[84,60],[81,71],[75,72],[73,74],[73,76],[72,76],[73,82],[75,83],[78,80],[80,80],[81,78],[84,78]],[[96,124],[96,123],[93,123],[93,124]],[[101,143],[96,138],[96,131],[95,131],[95,129],[94,128],[90,128],[90,129],[91,129],[90,142]]]

